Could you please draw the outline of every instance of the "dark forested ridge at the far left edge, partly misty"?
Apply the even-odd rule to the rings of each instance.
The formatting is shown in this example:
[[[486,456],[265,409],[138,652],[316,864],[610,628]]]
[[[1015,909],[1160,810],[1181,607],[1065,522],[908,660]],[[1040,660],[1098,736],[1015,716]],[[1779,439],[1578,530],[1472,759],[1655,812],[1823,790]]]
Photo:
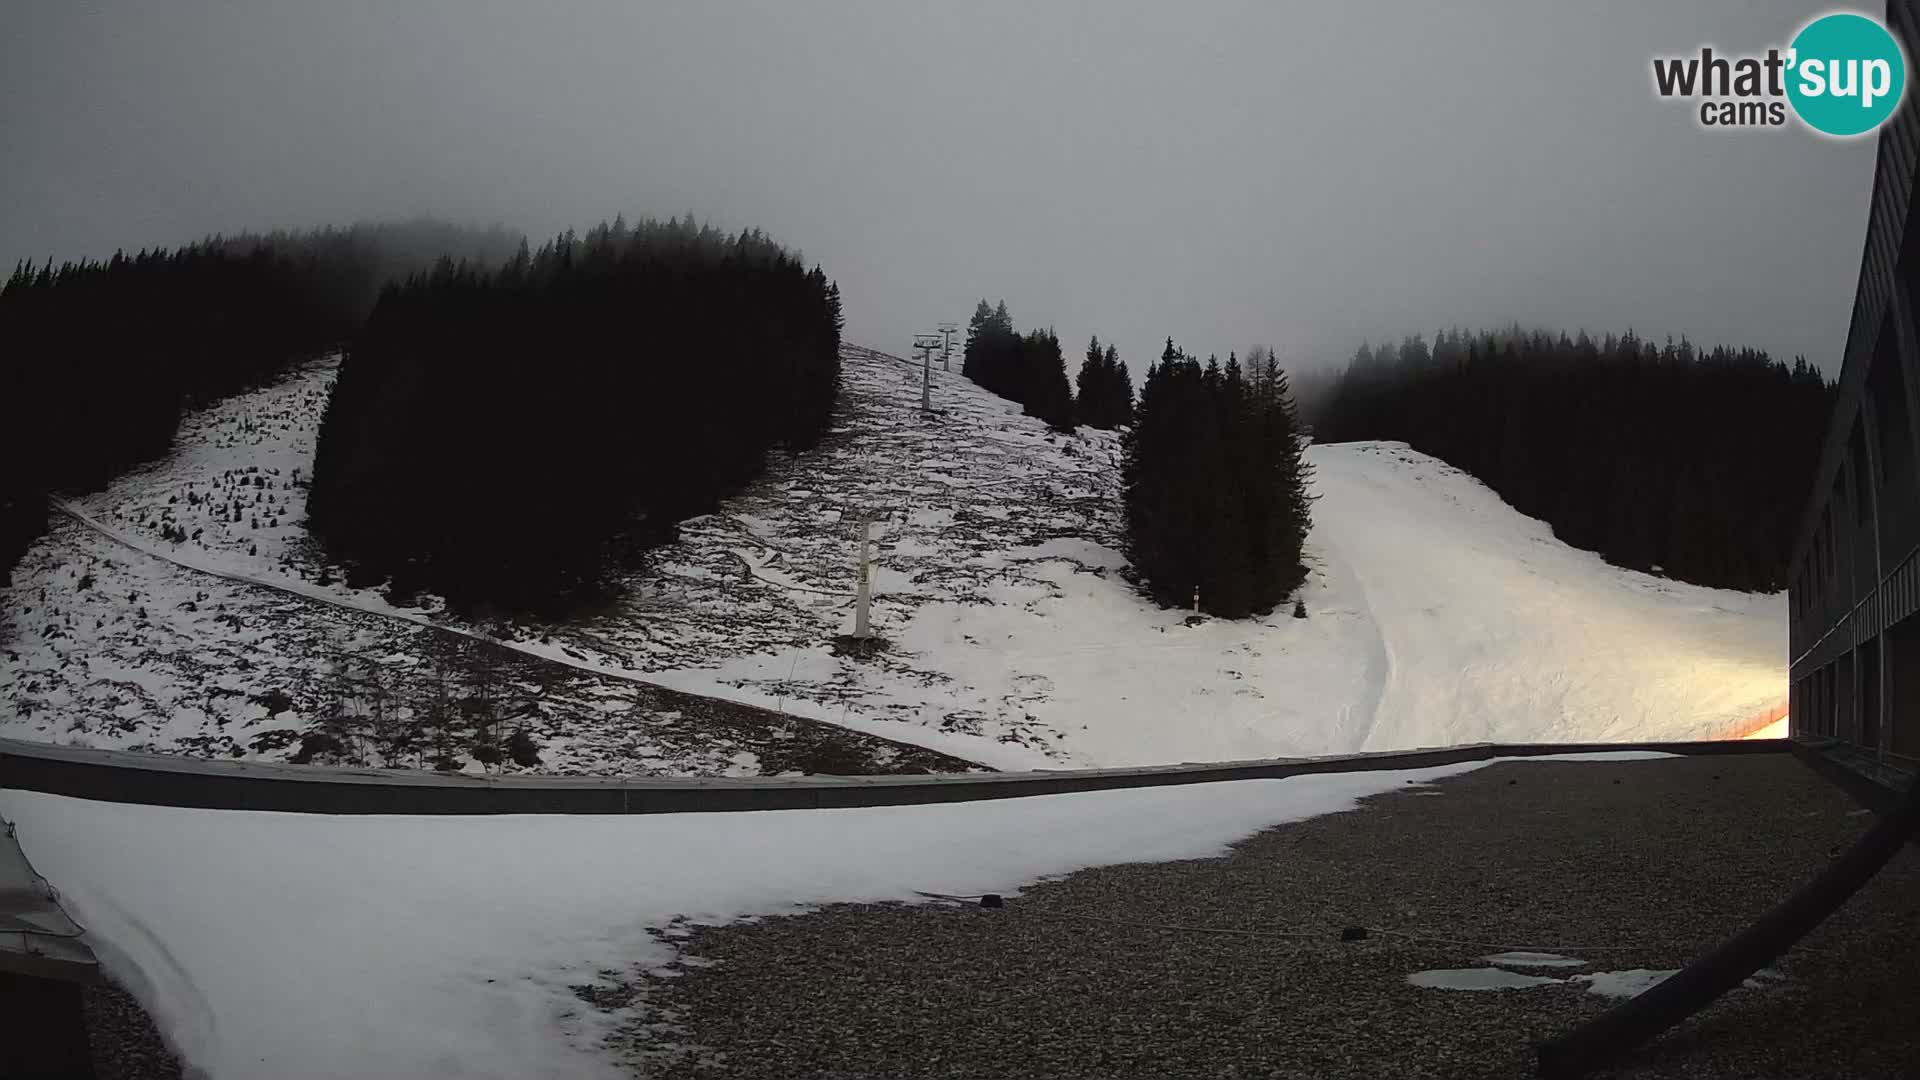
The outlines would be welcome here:
[[[17,265],[0,288],[0,582],[46,530],[48,492],[104,486],[165,454],[184,409],[344,342],[424,252],[518,242],[413,221]]]

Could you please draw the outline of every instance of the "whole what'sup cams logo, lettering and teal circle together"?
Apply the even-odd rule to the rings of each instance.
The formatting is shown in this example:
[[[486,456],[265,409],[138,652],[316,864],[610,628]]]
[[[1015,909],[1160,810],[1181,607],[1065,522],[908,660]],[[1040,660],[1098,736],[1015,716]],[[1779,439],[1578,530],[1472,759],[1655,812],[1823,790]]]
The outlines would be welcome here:
[[[1880,19],[1834,12],[1807,23],[1788,48],[1722,56],[1703,46],[1690,56],[1653,58],[1653,92],[1697,102],[1709,131],[1778,129],[1788,110],[1809,129],[1836,138],[1870,135],[1907,94],[1907,54]]]

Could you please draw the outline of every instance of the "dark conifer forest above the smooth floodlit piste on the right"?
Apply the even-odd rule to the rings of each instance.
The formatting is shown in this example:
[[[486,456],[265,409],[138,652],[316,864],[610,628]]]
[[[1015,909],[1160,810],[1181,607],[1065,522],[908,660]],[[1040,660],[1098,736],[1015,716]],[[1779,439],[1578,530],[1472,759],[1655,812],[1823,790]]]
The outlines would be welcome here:
[[[1770,592],[1832,400],[1805,359],[1757,350],[1448,331],[1361,346],[1313,429],[1407,442],[1615,565]]]

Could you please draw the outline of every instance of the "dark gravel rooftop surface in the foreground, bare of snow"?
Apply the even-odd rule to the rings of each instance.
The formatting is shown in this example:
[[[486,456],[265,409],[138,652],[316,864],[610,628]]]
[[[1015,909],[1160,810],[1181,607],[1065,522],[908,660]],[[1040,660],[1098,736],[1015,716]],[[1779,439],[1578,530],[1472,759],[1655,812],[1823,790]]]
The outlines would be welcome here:
[[[1553,978],[1678,969],[1870,821],[1786,753],[1503,763],[1002,909],[695,928],[676,974],[584,997],[641,1003],[641,1076],[1530,1076],[1538,1040],[1615,999],[1407,976],[1507,947],[1586,961],[1513,969]],[[1601,1076],[1920,1076],[1920,851],[1770,970]]]

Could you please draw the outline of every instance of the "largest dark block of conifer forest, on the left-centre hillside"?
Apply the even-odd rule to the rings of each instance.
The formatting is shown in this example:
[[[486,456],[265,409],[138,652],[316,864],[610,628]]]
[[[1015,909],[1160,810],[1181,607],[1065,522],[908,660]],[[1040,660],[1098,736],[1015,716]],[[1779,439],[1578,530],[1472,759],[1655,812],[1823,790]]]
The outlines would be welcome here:
[[[756,231],[599,225],[388,288],[319,432],[357,580],[551,611],[826,432],[839,288]]]

